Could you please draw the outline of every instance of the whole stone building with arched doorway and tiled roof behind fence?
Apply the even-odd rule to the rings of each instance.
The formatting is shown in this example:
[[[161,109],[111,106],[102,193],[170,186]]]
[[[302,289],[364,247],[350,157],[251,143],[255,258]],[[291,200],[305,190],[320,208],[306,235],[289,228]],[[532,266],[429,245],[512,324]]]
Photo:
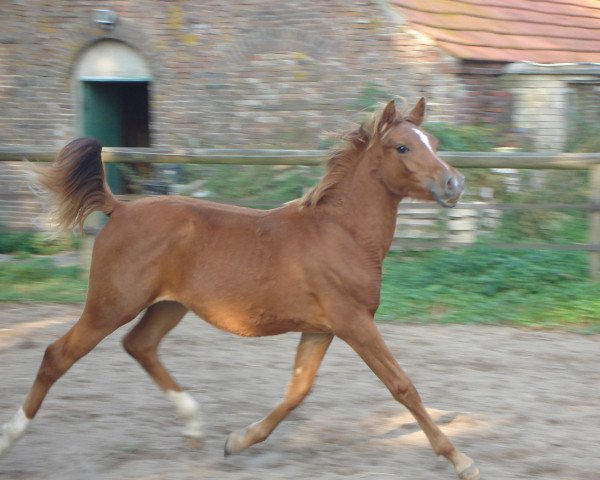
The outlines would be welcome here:
[[[81,135],[319,148],[397,95],[427,97],[429,120],[513,125],[556,150],[567,98],[600,82],[600,9],[585,0],[4,0],[1,10],[0,148],[56,151]]]

